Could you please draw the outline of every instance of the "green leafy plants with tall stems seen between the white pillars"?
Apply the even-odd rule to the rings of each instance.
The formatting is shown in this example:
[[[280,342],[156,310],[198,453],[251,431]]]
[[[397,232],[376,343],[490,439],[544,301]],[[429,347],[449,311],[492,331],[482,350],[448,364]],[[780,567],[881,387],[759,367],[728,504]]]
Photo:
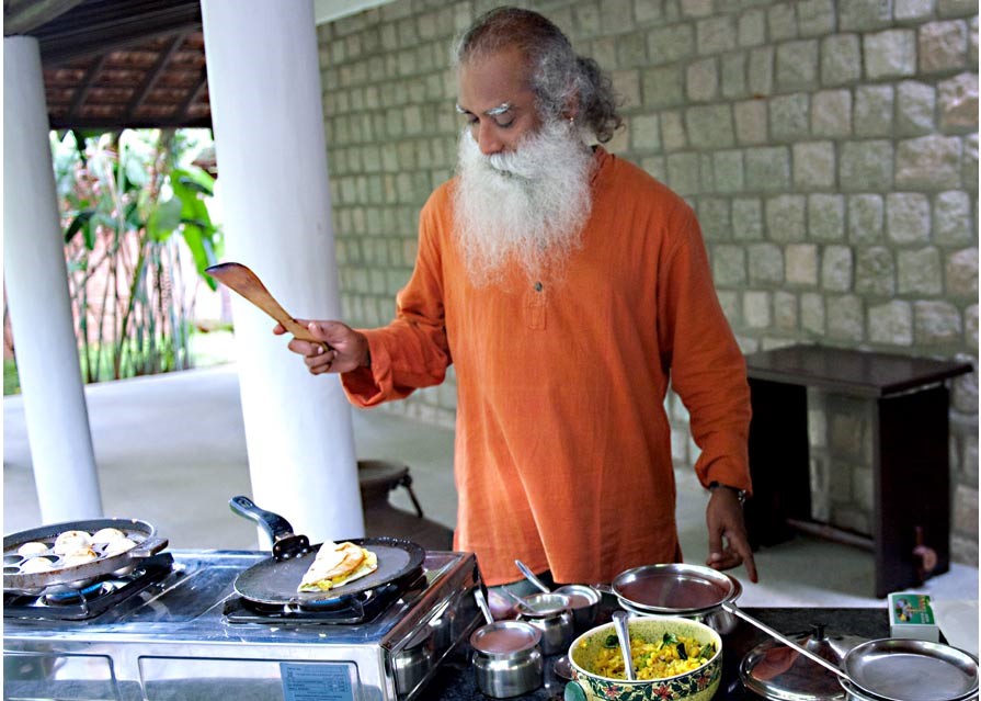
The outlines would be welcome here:
[[[204,270],[221,245],[194,146],[172,129],[52,135],[85,382],[191,365],[189,276],[214,290]]]

